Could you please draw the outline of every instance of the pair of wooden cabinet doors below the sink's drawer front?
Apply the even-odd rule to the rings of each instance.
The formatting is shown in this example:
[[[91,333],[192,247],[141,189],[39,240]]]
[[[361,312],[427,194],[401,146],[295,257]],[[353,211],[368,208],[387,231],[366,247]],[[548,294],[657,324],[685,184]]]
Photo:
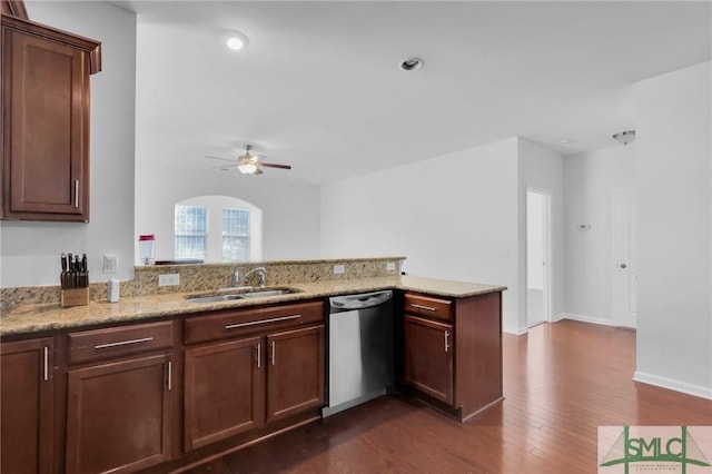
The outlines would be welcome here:
[[[185,352],[185,450],[324,405],[324,325]]]

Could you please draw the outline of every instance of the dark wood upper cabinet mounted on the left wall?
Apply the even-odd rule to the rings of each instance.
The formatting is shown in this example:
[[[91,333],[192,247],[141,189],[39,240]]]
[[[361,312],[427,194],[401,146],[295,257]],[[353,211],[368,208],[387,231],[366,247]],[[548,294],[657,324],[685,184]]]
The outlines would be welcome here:
[[[89,75],[100,45],[2,14],[3,219],[89,221]]]

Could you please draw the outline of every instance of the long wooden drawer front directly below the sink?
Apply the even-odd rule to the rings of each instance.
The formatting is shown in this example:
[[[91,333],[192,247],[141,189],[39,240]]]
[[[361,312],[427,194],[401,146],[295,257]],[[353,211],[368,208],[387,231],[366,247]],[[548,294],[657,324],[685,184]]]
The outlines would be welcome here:
[[[186,318],[185,342],[204,343],[323,320],[322,302],[221,312],[210,316]]]

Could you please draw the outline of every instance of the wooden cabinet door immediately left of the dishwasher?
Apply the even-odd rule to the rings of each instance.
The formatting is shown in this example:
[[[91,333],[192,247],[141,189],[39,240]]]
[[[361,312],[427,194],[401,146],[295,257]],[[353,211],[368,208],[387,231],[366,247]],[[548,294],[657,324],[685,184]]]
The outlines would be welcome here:
[[[324,405],[324,325],[267,336],[267,422]]]

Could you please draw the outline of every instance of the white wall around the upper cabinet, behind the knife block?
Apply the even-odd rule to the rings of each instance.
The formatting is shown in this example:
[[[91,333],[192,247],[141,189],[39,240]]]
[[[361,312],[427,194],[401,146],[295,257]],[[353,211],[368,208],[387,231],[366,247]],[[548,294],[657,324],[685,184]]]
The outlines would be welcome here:
[[[2,287],[59,284],[59,255],[118,254],[119,278],[134,275],[134,109],[136,16],[105,2],[26,2],[30,19],[102,42],[103,70],[91,77],[90,223],[0,223]]]

